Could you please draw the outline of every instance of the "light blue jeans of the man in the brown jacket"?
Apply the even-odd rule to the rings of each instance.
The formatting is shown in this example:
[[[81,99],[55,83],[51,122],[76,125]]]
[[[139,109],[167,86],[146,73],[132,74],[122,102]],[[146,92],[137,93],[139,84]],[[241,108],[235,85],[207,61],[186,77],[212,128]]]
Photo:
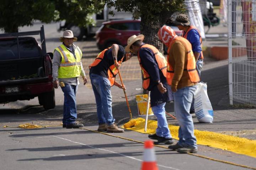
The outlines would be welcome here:
[[[196,137],[194,136],[194,124],[190,114],[190,106],[196,91],[196,85],[184,87],[174,92],[174,112],[180,125],[178,144],[197,149]]]

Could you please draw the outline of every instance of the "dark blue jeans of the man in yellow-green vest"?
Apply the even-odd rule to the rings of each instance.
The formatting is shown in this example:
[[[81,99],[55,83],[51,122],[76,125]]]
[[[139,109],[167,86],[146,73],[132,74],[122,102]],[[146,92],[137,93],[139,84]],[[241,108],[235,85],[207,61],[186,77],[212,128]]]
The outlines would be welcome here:
[[[63,124],[75,123],[77,118],[76,112],[76,92],[78,90],[78,85],[65,84],[61,87],[64,93],[64,104],[63,104]]]

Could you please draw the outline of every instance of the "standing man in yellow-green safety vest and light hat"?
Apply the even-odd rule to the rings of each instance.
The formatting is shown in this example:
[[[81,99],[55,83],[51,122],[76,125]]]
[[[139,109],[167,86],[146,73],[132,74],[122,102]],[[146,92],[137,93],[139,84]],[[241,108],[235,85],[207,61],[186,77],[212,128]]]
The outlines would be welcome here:
[[[76,92],[79,77],[82,76],[84,85],[87,83],[82,67],[82,51],[73,42],[77,41],[71,30],[65,30],[60,37],[62,44],[54,49],[53,53],[53,86],[61,87],[64,93],[63,128],[81,128],[84,125],[76,123]]]

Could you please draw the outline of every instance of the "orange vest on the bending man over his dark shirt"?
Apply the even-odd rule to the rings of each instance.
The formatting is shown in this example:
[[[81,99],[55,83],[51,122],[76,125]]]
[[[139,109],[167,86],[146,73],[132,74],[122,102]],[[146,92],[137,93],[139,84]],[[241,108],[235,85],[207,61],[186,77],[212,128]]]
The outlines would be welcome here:
[[[108,47],[107,49],[101,51],[97,57],[95,58],[94,62],[90,64],[89,66],[89,69],[91,69],[91,67],[95,67],[98,65],[98,63],[100,63],[102,60],[103,60],[103,57],[104,57],[104,54],[107,50],[111,49],[112,47]],[[123,57],[120,61],[118,61],[119,64],[122,64],[122,61],[123,61]],[[116,80],[116,75],[118,74],[118,69],[113,65],[111,65],[109,68],[108,68],[108,80],[110,80],[110,84],[111,86],[114,85],[114,82]]]

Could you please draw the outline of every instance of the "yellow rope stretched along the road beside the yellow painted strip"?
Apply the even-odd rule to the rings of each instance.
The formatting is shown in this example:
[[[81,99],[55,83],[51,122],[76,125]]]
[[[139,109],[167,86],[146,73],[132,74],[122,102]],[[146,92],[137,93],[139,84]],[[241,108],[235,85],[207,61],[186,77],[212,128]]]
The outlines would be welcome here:
[[[133,139],[130,139],[130,138],[127,138],[127,137],[122,137],[122,136],[116,136],[116,135],[112,135],[112,134],[105,133],[105,132],[98,132],[96,130],[91,130],[91,129],[84,128],[84,127],[83,128],[79,128],[79,129],[84,129],[84,130],[88,130],[88,131],[95,132],[95,133],[98,133],[98,134],[108,135],[108,136],[117,137],[117,138],[121,138],[121,139],[128,140],[128,141],[137,142],[137,143],[143,143],[144,144],[144,142],[142,142],[142,141],[137,141],[137,140],[133,140]],[[159,147],[159,148],[169,149],[168,147],[161,146],[161,145],[154,145],[154,146],[155,147]],[[208,160],[213,160],[213,161],[216,161],[216,162],[221,162],[221,163],[225,163],[225,164],[239,166],[239,167],[242,167],[242,168],[256,170],[256,168],[251,167],[251,166],[236,164],[236,163],[233,163],[233,162],[229,162],[229,161],[225,161],[225,160],[220,160],[220,159],[214,159],[214,158],[206,157],[204,155],[199,155],[199,154],[195,154],[195,153],[187,153],[187,154],[190,154],[190,155],[193,155],[193,156],[196,156],[196,157],[200,157],[200,158],[204,158],[204,159],[208,159]]]

